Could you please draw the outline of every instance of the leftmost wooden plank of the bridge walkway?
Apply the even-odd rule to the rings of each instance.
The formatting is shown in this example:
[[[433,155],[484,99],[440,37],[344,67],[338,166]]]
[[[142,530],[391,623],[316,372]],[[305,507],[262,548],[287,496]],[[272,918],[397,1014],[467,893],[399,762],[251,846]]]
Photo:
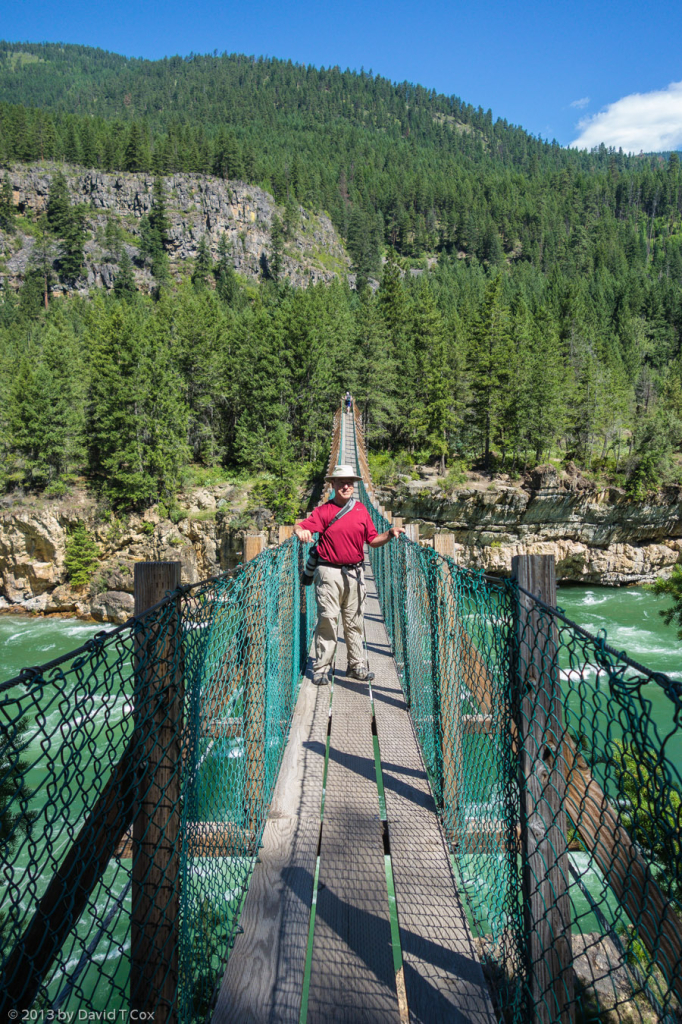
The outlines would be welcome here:
[[[329,688],[310,676],[308,666],[213,1024],[299,1018],[329,722]]]

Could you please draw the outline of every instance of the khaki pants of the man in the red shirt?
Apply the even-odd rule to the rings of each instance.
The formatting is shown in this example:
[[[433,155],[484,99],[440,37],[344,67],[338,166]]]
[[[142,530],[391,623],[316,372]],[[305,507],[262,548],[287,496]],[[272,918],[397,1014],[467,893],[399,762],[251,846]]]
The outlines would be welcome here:
[[[348,668],[365,666],[363,614],[365,574],[363,569],[344,572],[332,565],[318,565],[314,574],[317,625],[315,626],[315,673],[329,668],[336,647],[339,611],[348,648]]]

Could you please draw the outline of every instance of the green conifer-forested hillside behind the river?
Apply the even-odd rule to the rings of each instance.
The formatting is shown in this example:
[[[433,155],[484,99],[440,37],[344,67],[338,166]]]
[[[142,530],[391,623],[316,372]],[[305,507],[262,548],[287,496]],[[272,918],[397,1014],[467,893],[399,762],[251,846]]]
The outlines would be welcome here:
[[[218,462],[269,472],[281,490],[291,466],[323,457],[346,387],[376,447],[407,468],[439,462],[451,485],[470,466],[548,459],[633,495],[679,479],[676,154],[568,152],[456,97],[338,69],[33,44],[0,54],[5,167],[158,179],[139,255],[153,297],[136,294],[123,246],[111,294],[50,301],[46,274],[78,271],[82,213],[50,222],[48,205],[29,225],[40,258],[0,307],[6,486],[58,489],[84,471],[131,507],[171,501],[187,463]],[[357,290],[293,291],[275,273],[254,291],[227,254],[214,265],[207,253],[191,283],[170,287],[164,175],[177,171],[272,191],[275,251],[298,204],[327,210]],[[27,227],[8,185],[0,227]]]

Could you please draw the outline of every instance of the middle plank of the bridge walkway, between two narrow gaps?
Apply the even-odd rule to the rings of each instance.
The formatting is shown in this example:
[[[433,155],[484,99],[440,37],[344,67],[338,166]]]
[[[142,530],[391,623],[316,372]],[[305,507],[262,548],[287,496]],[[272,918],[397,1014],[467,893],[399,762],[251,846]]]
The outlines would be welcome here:
[[[399,1024],[369,690],[345,655],[340,641],[307,1021]]]

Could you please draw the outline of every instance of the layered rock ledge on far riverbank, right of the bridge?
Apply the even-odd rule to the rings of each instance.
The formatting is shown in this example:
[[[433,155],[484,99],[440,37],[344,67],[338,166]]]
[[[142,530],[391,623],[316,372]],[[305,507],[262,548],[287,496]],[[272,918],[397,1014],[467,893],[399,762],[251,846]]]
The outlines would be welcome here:
[[[454,535],[457,560],[508,574],[516,554],[553,554],[557,577],[585,584],[648,583],[682,561],[682,488],[633,501],[597,490],[580,474],[540,467],[523,486],[500,482],[444,495],[434,475],[379,490],[394,515],[421,524],[422,538]]]

